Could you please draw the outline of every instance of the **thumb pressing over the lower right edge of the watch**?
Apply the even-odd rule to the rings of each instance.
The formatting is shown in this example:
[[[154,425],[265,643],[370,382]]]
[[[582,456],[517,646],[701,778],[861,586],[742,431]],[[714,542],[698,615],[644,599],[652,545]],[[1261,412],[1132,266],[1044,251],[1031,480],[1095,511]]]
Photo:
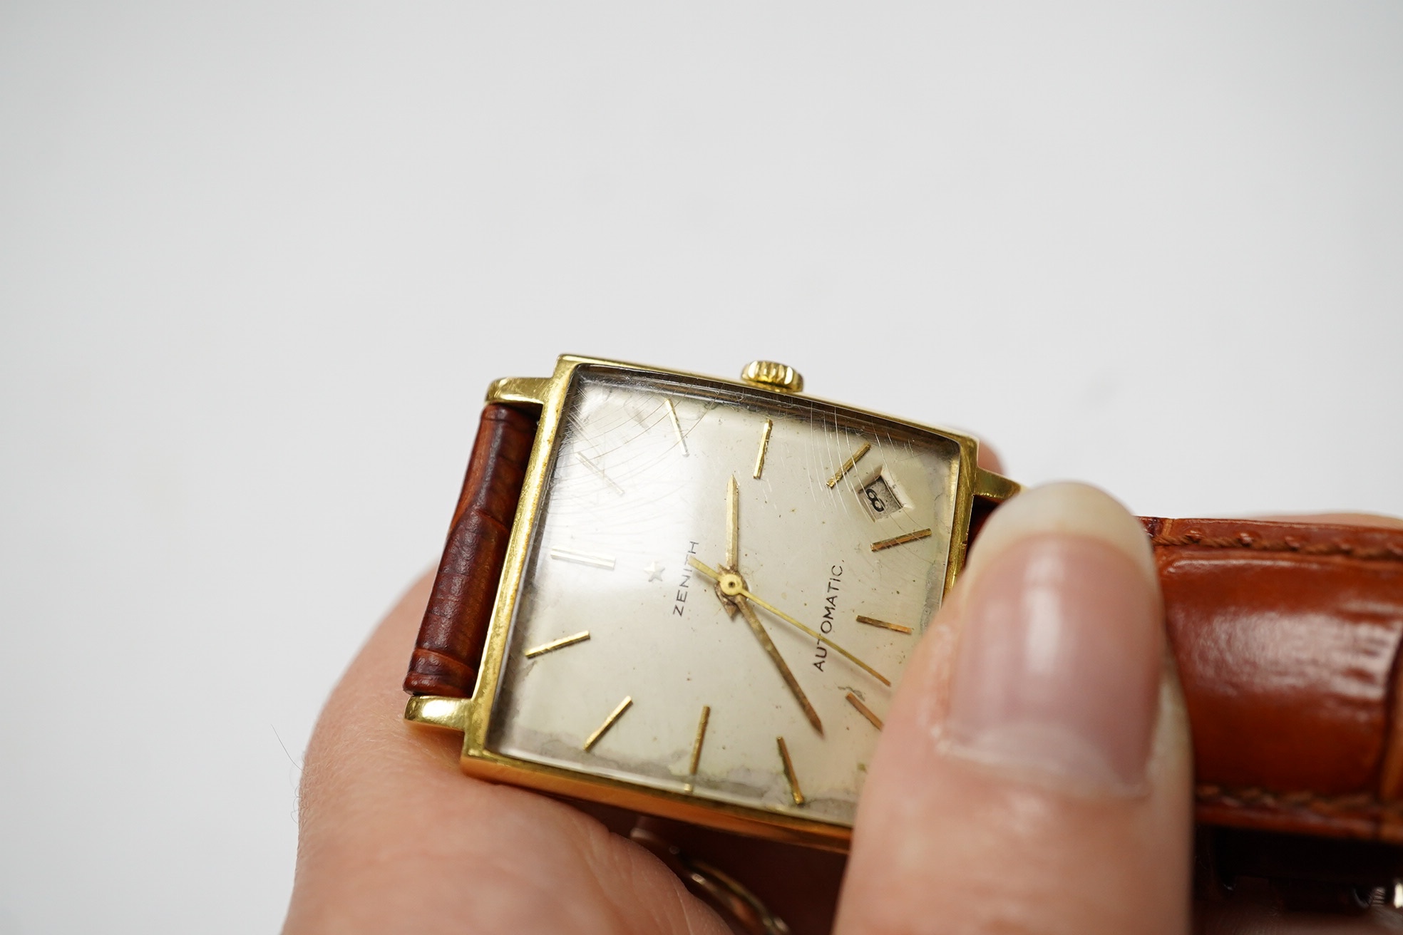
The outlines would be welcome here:
[[[1191,756],[1162,618],[1110,496],[1000,507],[897,692],[836,931],[1184,935]]]

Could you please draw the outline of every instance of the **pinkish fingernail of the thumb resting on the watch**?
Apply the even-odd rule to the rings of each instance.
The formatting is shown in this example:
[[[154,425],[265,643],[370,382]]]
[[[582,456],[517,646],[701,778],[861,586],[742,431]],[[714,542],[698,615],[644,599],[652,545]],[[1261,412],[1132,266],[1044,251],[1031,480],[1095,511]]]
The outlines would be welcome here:
[[[1120,795],[1143,789],[1160,597],[1139,523],[1056,484],[989,520],[965,572],[948,753]]]

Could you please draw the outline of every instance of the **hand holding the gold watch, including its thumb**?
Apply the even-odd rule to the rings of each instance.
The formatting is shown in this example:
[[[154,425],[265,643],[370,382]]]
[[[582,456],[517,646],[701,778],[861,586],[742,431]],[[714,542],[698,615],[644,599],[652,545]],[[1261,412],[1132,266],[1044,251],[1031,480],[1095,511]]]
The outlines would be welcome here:
[[[400,719],[428,580],[352,663],[307,750],[286,932],[725,932],[627,840],[636,816],[462,775],[457,739]],[[1149,547],[1090,488],[985,526],[913,659],[842,858],[647,820],[796,932],[1389,931],[1190,910],[1191,761]],[[588,813],[586,813],[588,812]],[[842,883],[840,883],[842,880]]]

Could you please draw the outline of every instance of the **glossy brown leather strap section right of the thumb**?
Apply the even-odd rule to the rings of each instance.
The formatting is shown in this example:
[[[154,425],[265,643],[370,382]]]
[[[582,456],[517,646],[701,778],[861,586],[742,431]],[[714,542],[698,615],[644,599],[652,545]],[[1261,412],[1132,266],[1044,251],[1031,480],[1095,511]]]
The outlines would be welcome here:
[[[1198,820],[1403,844],[1403,530],[1143,523]]]

